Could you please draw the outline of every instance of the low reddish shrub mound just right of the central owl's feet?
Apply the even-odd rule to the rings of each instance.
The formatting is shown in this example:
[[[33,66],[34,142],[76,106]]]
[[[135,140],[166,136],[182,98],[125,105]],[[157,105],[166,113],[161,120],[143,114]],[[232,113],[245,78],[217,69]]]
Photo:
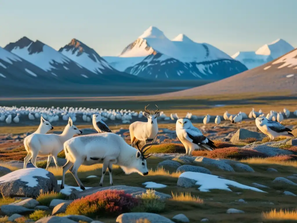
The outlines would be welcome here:
[[[207,155],[208,158],[221,158],[221,159],[246,159],[251,157],[267,157],[264,153],[252,149],[240,149],[238,147],[228,147],[210,151]]]

